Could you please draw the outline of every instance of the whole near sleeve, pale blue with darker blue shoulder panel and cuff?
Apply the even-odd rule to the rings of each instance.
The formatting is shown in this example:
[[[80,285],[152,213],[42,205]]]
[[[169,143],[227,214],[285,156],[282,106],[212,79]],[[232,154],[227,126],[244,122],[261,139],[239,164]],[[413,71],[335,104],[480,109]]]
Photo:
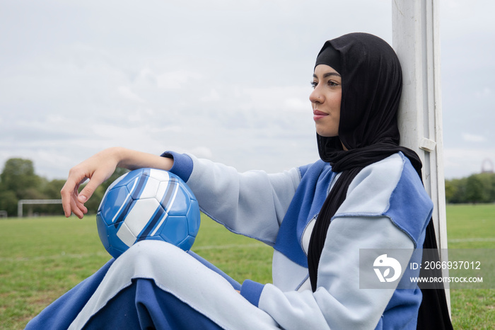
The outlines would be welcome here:
[[[431,216],[431,203],[423,205],[426,193],[419,189],[419,178],[398,163],[392,159],[363,169],[349,186],[346,202],[328,228],[315,292],[282,292],[271,284],[245,281],[241,294],[284,329],[374,329],[400,280],[385,289],[360,288],[359,249],[406,249],[399,261],[407,264]],[[395,205],[404,196],[409,204]],[[407,218],[390,217],[394,207],[405,209]],[[402,222],[416,222],[419,236],[412,237]]]

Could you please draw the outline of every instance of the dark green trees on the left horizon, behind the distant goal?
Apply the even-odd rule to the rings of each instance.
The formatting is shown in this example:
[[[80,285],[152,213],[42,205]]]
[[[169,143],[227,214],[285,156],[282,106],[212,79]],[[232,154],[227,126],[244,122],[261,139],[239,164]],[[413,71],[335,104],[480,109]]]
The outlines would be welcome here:
[[[93,197],[85,203],[89,213],[98,211],[100,201],[110,183],[127,170],[117,169],[115,173],[103,183]],[[60,199],[60,190],[65,180],[47,180],[35,173],[33,161],[30,159],[11,158],[4,164],[0,174],[0,211],[6,211],[8,217],[17,216],[19,200]],[[24,205],[24,215],[63,215],[61,204]]]

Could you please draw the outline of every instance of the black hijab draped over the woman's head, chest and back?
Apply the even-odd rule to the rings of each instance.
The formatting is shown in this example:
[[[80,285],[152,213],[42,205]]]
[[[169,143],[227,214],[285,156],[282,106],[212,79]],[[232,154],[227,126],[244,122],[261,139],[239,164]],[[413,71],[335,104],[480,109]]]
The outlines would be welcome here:
[[[339,56],[336,57],[335,52]],[[336,59],[339,59],[339,65],[335,63]],[[330,65],[342,76],[339,136],[322,137],[317,134],[320,158],[332,165],[332,171],[342,174],[323,203],[311,234],[308,271],[313,292],[316,290],[318,263],[330,221],[344,202],[347,188],[359,171],[376,161],[402,152],[421,178],[421,160],[418,155],[411,149],[399,146],[397,110],[402,93],[402,69],[392,47],[375,35],[350,33],[325,42],[315,66],[318,64]],[[344,151],[342,144],[348,151]],[[433,242],[436,248],[434,235],[433,222],[430,221],[425,240],[429,249],[433,248]],[[424,301],[419,312],[418,329],[429,329],[432,323],[435,329],[451,329],[445,292],[428,291],[430,292],[423,291]],[[429,297],[431,291],[438,291],[434,294],[435,297]],[[424,314],[421,309],[426,306],[433,308],[429,301],[434,301],[433,307],[441,309],[439,313],[444,315],[441,322],[443,327],[438,327],[430,319],[421,320],[421,315]],[[428,314],[432,315],[431,313],[432,310],[429,310]],[[436,315],[433,314],[433,317],[436,318]]]

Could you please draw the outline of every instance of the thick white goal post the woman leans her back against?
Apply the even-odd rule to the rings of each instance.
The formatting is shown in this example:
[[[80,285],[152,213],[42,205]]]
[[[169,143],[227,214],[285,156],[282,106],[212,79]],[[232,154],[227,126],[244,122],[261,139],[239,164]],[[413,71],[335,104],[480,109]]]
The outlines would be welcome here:
[[[433,200],[433,224],[440,258],[447,261],[447,219],[443,175],[440,31],[438,0],[394,0],[392,46],[402,65],[399,110],[401,144],[419,155],[423,182]],[[450,296],[445,290],[450,308]]]

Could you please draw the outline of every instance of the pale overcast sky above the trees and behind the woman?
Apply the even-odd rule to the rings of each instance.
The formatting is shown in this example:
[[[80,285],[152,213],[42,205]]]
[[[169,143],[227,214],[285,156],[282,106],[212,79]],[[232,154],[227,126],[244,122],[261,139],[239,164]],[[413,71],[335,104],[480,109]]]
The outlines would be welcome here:
[[[440,1],[445,176],[495,161],[495,1]],[[269,172],[318,159],[323,42],[392,42],[391,1],[0,0],[0,166],[66,178],[100,149]]]

